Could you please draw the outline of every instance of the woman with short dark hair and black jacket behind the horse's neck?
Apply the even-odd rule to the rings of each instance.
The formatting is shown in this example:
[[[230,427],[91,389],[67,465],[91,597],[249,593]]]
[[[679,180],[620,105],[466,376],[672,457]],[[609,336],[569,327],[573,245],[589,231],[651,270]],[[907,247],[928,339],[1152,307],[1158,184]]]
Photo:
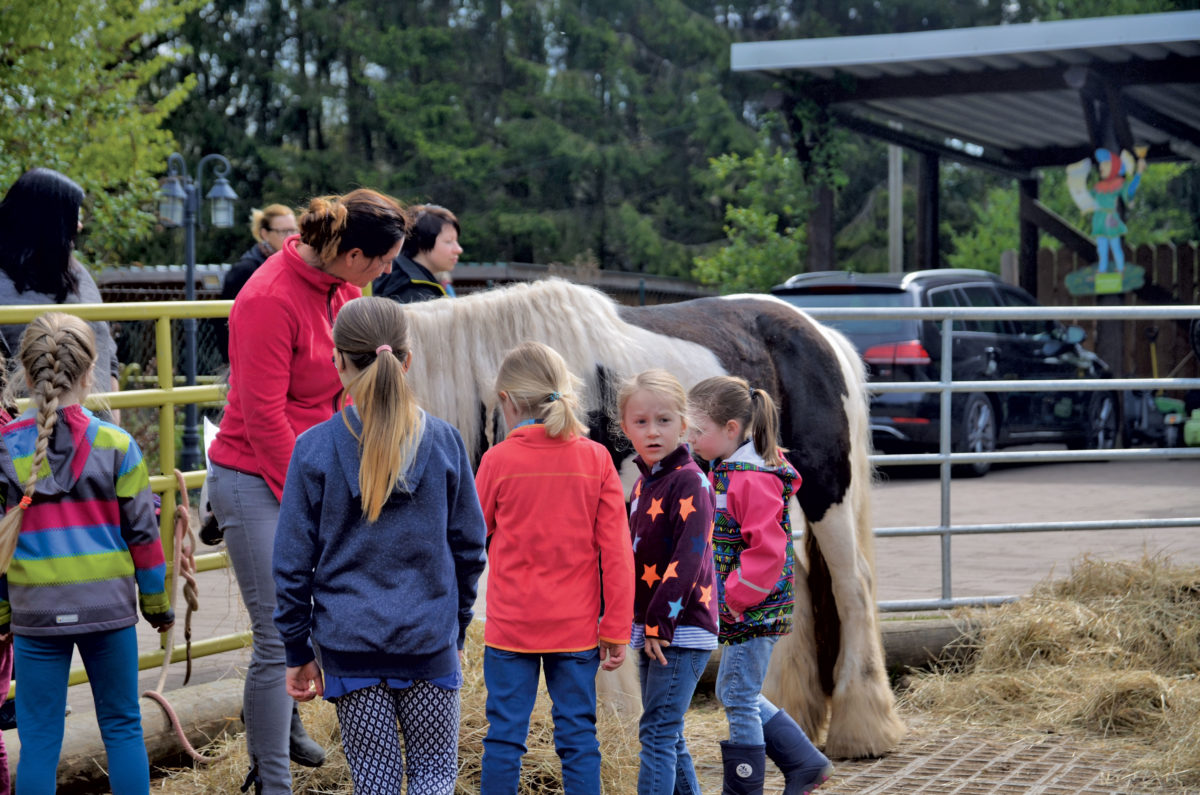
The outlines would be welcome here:
[[[401,304],[451,294],[442,277],[449,277],[462,253],[458,245],[462,229],[454,213],[437,204],[418,204],[412,213],[413,228],[396,262],[391,263],[391,273],[377,279],[372,287],[372,294]]]

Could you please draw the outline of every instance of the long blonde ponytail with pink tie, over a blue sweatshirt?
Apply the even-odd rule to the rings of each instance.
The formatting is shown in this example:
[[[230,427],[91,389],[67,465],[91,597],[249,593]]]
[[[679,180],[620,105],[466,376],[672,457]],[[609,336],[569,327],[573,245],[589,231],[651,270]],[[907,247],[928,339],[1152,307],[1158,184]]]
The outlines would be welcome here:
[[[385,345],[391,351],[379,349]],[[337,313],[334,346],[358,370],[346,389],[362,419],[362,515],[376,521],[396,486],[406,485],[404,466],[420,442],[421,410],[404,375],[410,351],[404,312],[389,298],[355,298]]]

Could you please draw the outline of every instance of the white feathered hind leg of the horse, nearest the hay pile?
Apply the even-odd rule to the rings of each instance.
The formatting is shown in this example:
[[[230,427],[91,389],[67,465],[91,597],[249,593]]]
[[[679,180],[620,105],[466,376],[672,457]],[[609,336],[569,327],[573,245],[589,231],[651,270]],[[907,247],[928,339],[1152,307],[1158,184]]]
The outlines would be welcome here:
[[[853,497],[853,492],[847,496]],[[869,534],[871,528],[859,521],[852,504],[842,502],[830,507],[811,532],[829,564],[841,620],[824,752],[829,757],[877,757],[900,741],[905,725],[895,713],[883,664],[870,536],[865,546],[859,540],[859,534]]]

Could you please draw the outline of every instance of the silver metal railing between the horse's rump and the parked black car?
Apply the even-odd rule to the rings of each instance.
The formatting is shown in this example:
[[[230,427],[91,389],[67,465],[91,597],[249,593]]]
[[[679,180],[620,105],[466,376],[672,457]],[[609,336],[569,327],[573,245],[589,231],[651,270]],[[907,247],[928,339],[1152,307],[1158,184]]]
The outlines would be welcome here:
[[[1200,306],[1057,306],[1057,307],[991,307],[991,309],[805,309],[818,321],[853,319],[920,319],[942,324],[941,378],[930,382],[871,382],[870,389],[884,393],[938,393],[938,452],[917,454],[872,455],[876,466],[918,466],[936,464],[940,467],[941,504],[937,525],[913,527],[882,527],[876,538],[912,538],[936,536],[941,542],[941,598],[884,600],[878,608],[884,612],[918,612],[946,610],[956,606],[1003,604],[1018,598],[1010,596],[955,597],[952,588],[950,546],[955,536],[985,533],[1037,533],[1046,531],[1154,530],[1200,527],[1200,516],[1178,519],[1112,519],[1100,521],[1000,522],[985,525],[954,525],[950,520],[952,467],[976,462],[1061,462],[1061,461],[1127,461],[1163,459],[1200,459],[1200,448],[1170,449],[1110,449],[1110,450],[1019,450],[1007,453],[953,453],[950,398],[955,393],[997,391],[1122,391],[1128,389],[1196,389],[1200,378],[1070,378],[1030,381],[954,381],[950,367],[956,331],[955,321],[1046,321],[1072,318],[1138,321],[1188,319],[1200,317]],[[971,334],[959,330],[958,334]]]

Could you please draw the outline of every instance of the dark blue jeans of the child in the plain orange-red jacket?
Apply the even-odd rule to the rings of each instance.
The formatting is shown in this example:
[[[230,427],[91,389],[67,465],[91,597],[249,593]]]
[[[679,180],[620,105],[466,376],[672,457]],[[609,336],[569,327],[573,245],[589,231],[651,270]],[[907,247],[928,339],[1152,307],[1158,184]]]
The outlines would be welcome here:
[[[484,737],[482,795],[516,795],[529,716],[538,698],[538,674],[554,719],[554,751],[563,763],[566,795],[600,795],[600,742],[596,740],[596,670],[600,651],[520,653],[484,650],[487,736]]]

